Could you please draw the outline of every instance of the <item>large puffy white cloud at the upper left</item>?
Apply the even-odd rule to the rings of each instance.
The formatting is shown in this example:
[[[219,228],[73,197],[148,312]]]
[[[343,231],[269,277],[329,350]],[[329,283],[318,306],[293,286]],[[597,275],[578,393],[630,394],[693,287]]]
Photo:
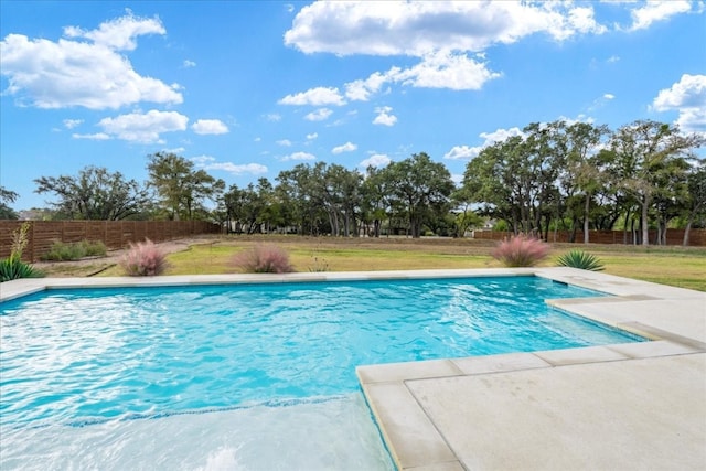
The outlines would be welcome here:
[[[98,30],[76,26],[53,42],[22,34],[0,41],[0,73],[8,77],[4,90],[20,106],[89,109],[119,108],[140,101],[180,104],[179,85],[139,75],[120,51],[132,51],[142,34],[165,34],[159,20],[132,14],[103,23]]]

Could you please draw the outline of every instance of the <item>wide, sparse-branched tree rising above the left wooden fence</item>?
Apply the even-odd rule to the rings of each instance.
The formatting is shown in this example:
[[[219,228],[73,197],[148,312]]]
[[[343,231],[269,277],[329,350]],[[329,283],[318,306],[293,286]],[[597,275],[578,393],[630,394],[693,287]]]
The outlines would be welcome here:
[[[149,202],[149,192],[142,185],[101,167],[86,167],[77,176],[41,176],[34,182],[36,193],[56,194],[58,201],[50,204],[60,217],[125,220],[142,212]]]

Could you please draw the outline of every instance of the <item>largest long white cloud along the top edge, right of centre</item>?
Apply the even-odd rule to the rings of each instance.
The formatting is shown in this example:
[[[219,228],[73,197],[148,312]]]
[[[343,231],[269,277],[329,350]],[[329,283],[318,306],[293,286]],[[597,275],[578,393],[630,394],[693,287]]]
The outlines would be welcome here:
[[[285,44],[308,54],[420,57],[483,51],[536,33],[561,41],[605,31],[592,6],[570,2],[315,2],[297,13]]]

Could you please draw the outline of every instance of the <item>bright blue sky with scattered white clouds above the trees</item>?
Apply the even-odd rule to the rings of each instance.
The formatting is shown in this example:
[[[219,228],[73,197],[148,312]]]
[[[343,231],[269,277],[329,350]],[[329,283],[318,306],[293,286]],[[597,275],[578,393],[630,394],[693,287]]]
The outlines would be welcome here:
[[[172,151],[244,186],[323,161],[467,162],[530,122],[706,132],[706,4],[0,2],[0,184]]]

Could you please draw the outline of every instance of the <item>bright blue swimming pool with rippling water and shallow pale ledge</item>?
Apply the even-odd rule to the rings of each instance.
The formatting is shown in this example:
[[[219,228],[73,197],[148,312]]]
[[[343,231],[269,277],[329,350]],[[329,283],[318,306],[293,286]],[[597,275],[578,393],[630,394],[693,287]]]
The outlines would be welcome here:
[[[544,302],[590,296],[600,293],[495,277],[71,289],[3,302],[0,464],[389,469],[356,365],[638,340]],[[264,452],[277,430],[280,452]]]

